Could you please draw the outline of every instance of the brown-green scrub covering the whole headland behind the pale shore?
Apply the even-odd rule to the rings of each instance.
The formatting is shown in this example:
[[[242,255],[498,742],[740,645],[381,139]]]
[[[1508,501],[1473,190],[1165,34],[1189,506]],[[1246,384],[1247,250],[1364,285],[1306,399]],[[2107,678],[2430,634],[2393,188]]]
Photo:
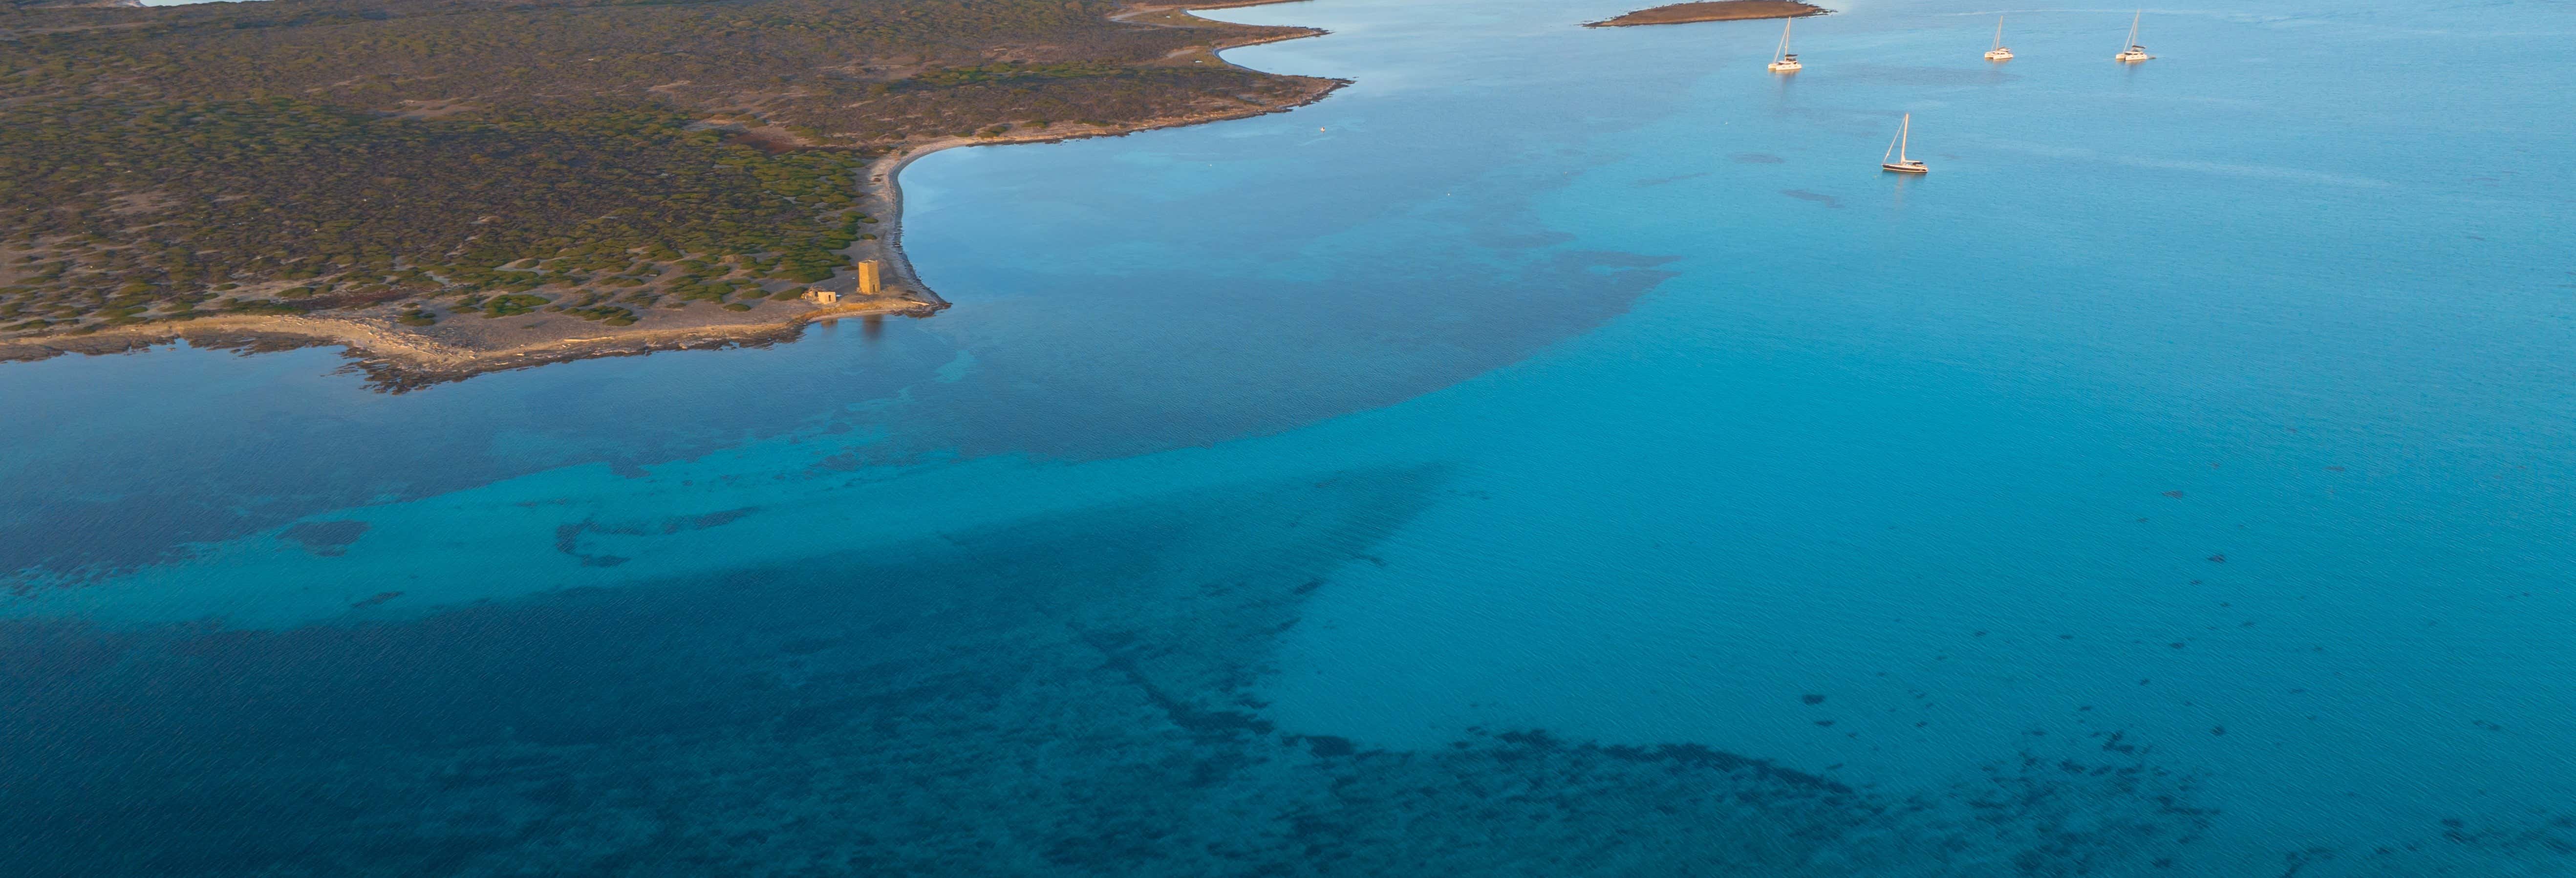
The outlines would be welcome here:
[[[832,278],[837,250],[873,239],[860,170],[907,142],[1136,126],[1324,85],[1170,62],[1285,28],[1115,8],[0,0],[0,332],[742,306],[762,281]]]

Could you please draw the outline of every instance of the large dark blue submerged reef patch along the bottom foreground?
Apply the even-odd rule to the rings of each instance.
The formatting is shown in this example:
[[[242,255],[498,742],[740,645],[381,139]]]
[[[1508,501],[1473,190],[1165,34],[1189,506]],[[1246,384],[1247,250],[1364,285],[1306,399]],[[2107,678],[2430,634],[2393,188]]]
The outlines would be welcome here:
[[[13,875],[2117,875],[2195,863],[2218,819],[2151,747],[2012,754],[1886,793],[1687,742],[1499,729],[1396,752],[1275,729],[1249,698],[1275,636],[1440,481],[1247,484],[407,621],[0,623],[0,860]],[[688,525],[703,523],[629,530]],[[2514,857],[2566,839],[2455,832]],[[2303,875],[2370,860],[2295,857],[2318,863]]]

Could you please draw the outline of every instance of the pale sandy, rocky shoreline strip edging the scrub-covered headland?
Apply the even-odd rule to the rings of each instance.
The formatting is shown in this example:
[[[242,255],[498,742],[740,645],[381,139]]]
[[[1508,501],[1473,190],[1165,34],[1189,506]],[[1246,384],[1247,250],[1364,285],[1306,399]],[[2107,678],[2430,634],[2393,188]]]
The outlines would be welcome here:
[[[1167,64],[1226,64],[1218,57],[1224,49],[1242,49],[1288,39],[1324,36],[1321,28],[1296,28],[1296,33],[1221,33],[1224,28],[1236,28],[1234,23],[1195,18],[1190,10],[1211,8],[1247,8],[1247,5],[1273,5],[1273,3],[1301,3],[1301,0],[1216,0],[1216,3],[1133,3],[1110,13],[1110,21],[1157,26],[1157,28],[1208,28],[1218,31],[1206,46],[1193,46],[1190,51],[1175,51],[1164,59]],[[1162,15],[1167,21],[1133,21],[1144,15]],[[1177,15],[1177,21],[1175,21]],[[1229,39],[1236,36],[1236,39]],[[999,144],[1054,144],[1069,139],[1090,136],[1126,136],[1136,131],[1180,129],[1195,124],[1213,124],[1229,118],[1252,118],[1267,113],[1285,113],[1332,95],[1350,80],[1327,77],[1288,77],[1306,88],[1285,103],[1257,103],[1242,100],[1239,106],[1211,108],[1203,113],[1180,113],[1164,118],[1146,118],[1126,126],[1084,126],[1084,124],[1056,124],[1038,131],[1010,131],[999,136],[940,136],[927,142],[904,142],[894,152],[871,160],[858,180],[858,203],[868,216],[876,216],[876,239],[858,239],[842,250],[855,260],[884,263],[884,299],[845,301],[837,306],[817,306],[809,301],[757,301],[752,312],[714,312],[714,309],[688,309],[683,314],[652,314],[652,324],[636,327],[605,327],[598,322],[580,319],[551,319],[533,317],[520,319],[474,319],[466,322],[461,314],[440,319],[433,327],[402,327],[394,322],[389,309],[368,312],[343,312],[343,314],[211,314],[196,319],[157,319],[121,327],[103,327],[82,335],[57,332],[57,335],[21,335],[0,337],[0,363],[21,360],[46,360],[67,353],[80,355],[111,355],[111,353],[139,353],[155,345],[167,345],[173,340],[188,340],[204,348],[227,348],[242,353],[265,350],[294,350],[294,348],[327,348],[337,345],[353,368],[363,371],[368,381],[381,391],[410,391],[420,386],[464,381],[471,376],[513,368],[533,368],[546,363],[569,363],[587,358],[611,355],[647,355],[659,350],[690,350],[690,348],[757,348],[796,340],[806,324],[829,322],[842,317],[930,317],[951,306],[940,299],[920,273],[912,268],[912,257],[902,247],[904,229],[904,198],[902,198],[902,170],[914,160],[956,147],[999,147]],[[837,273],[829,281],[814,286],[840,288],[845,296],[855,286],[850,270]],[[541,332],[531,332],[541,330]]]

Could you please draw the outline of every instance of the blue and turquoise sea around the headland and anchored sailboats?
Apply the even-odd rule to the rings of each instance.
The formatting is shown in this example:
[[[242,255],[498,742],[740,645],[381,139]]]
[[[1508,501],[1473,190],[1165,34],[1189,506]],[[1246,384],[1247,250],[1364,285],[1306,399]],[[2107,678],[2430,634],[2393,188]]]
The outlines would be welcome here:
[[[2576,875],[2568,5],[1625,8],[1208,13],[1355,85],[933,319],[0,366],[0,870]]]

